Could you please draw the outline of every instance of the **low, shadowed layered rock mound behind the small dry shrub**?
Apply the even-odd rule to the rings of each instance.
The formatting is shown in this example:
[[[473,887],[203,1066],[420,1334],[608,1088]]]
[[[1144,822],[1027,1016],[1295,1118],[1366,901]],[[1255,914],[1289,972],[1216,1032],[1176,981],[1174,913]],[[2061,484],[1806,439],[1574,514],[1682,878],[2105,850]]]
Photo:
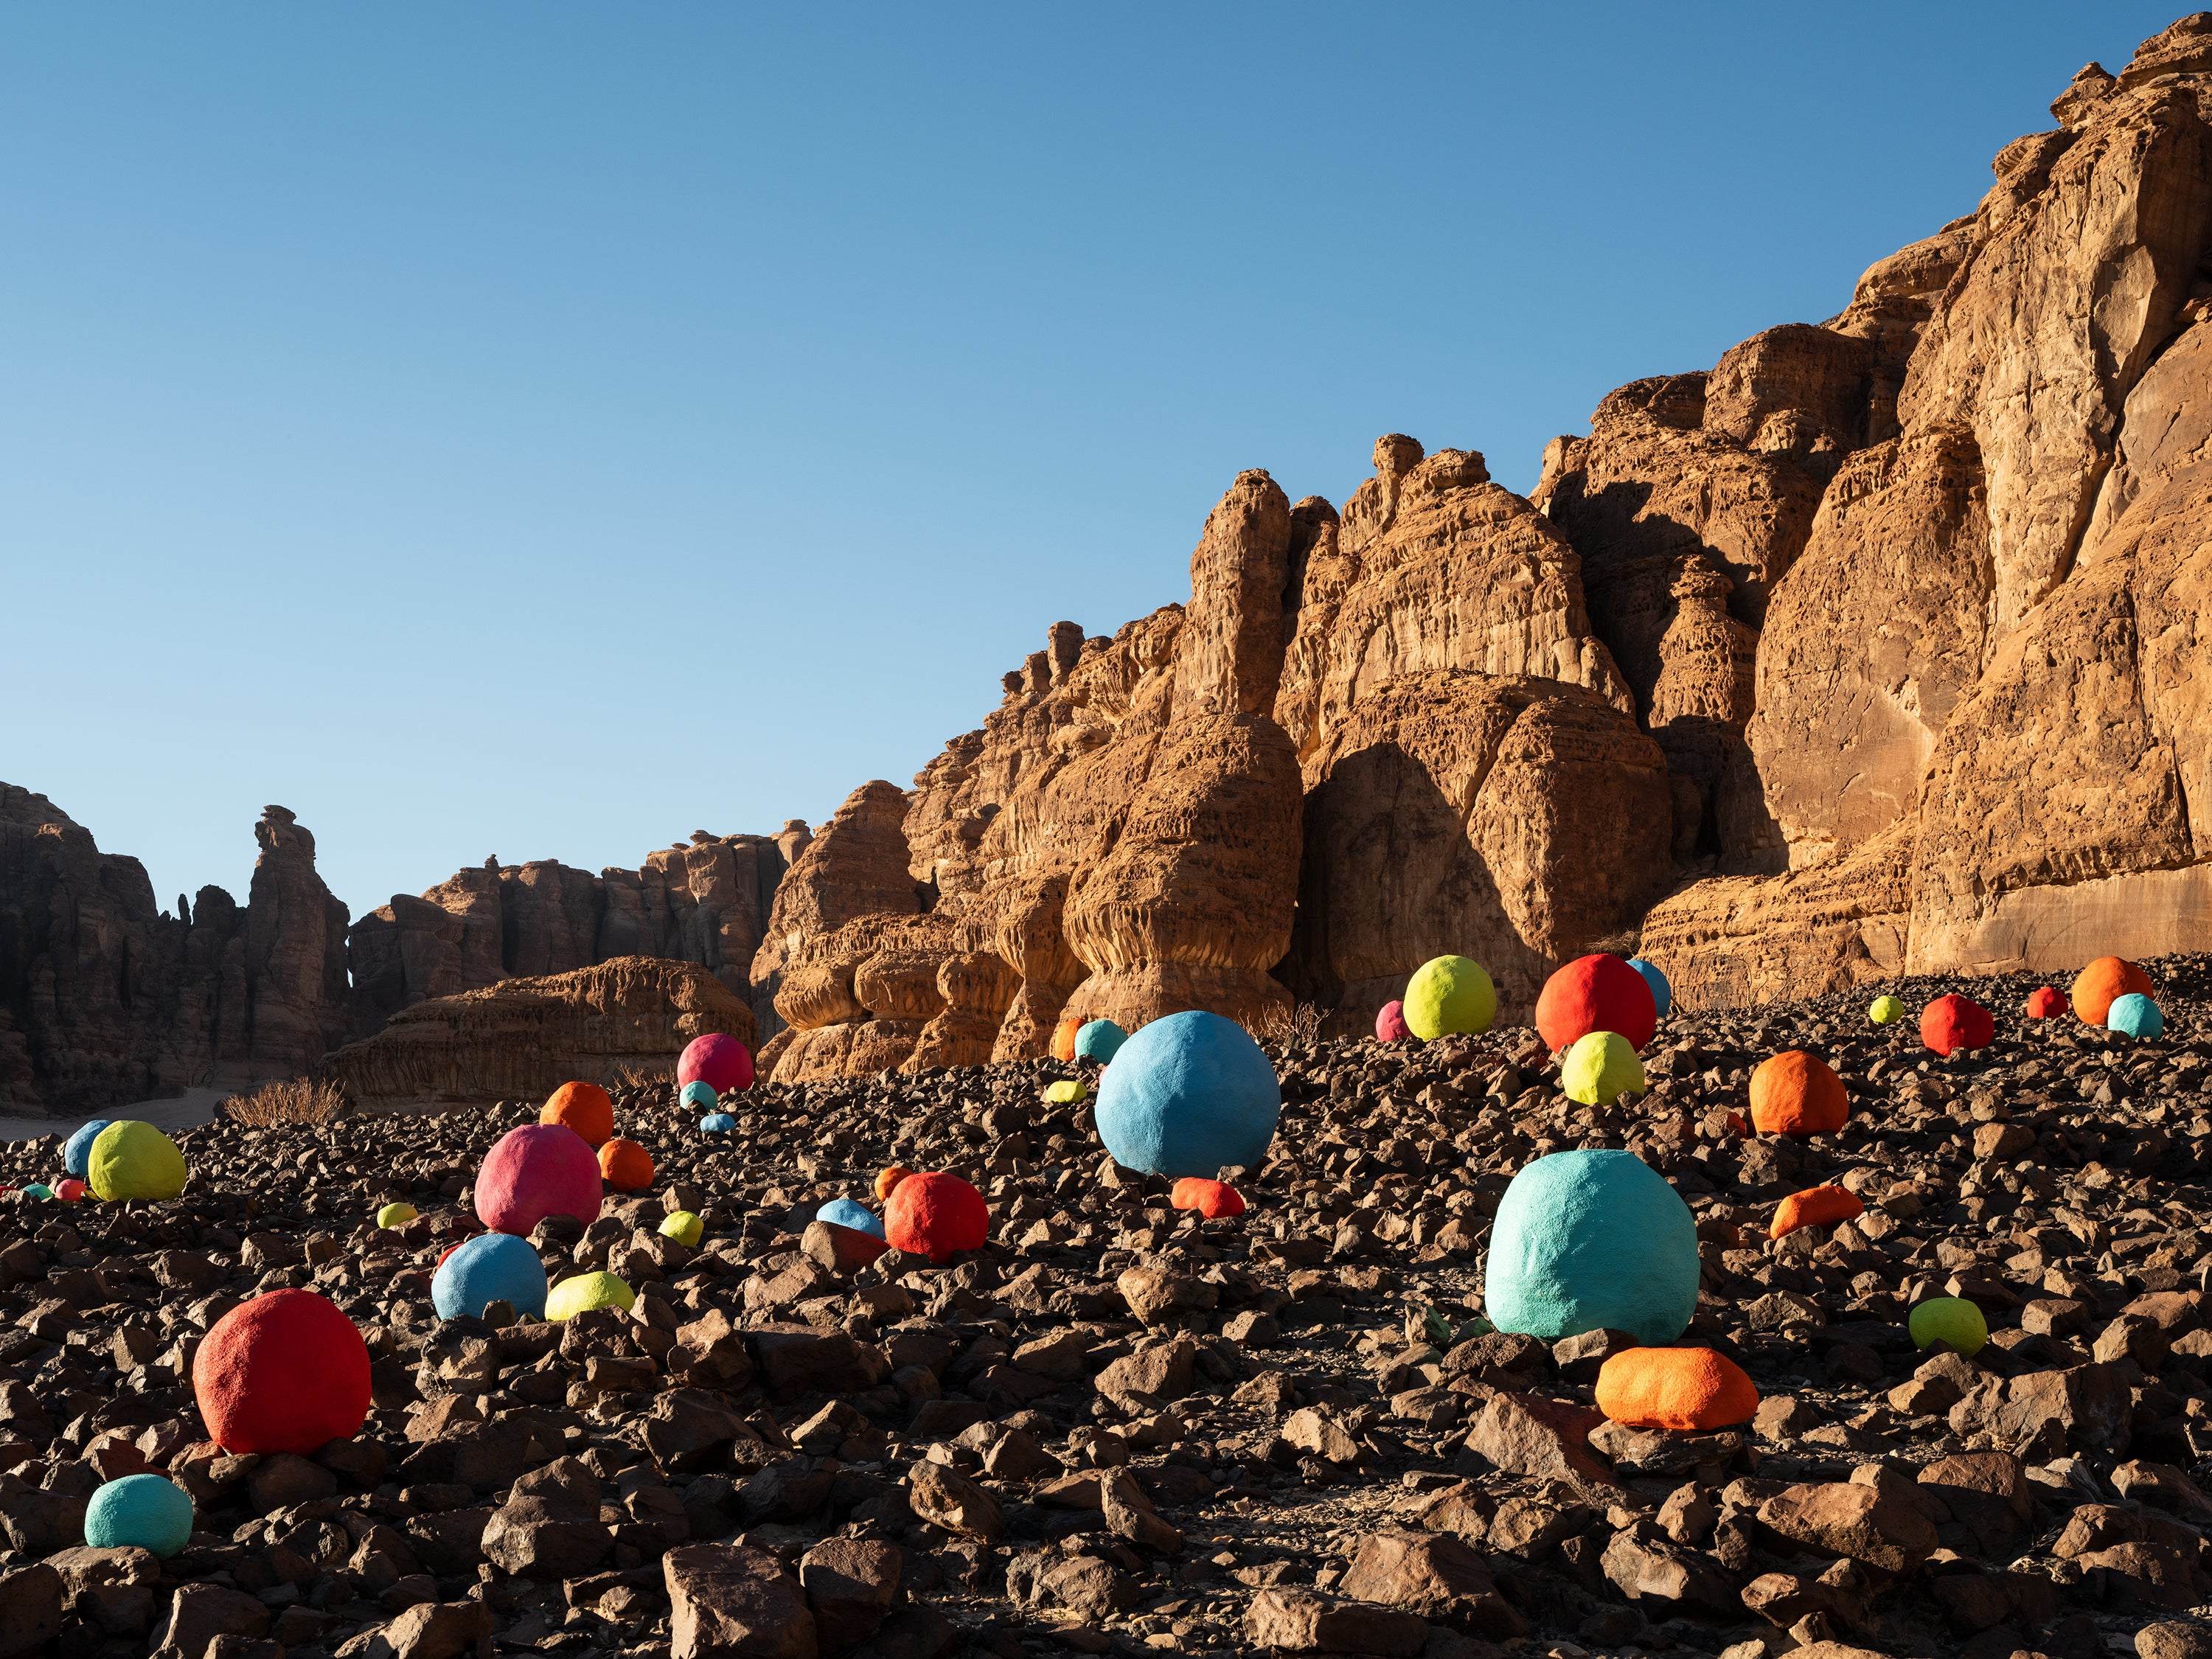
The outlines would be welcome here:
[[[571,1077],[672,1073],[692,1037],[754,1040],[752,1006],[695,962],[619,956],[400,1009],[319,1071],[356,1106],[542,1099]]]

